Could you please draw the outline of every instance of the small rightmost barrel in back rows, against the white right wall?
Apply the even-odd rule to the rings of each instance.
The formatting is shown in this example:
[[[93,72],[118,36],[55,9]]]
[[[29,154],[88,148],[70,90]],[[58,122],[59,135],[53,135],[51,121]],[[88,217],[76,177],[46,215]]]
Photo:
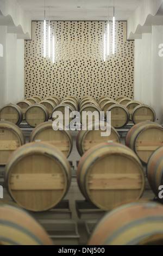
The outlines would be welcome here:
[[[134,108],[132,116],[131,116],[133,123],[138,124],[143,121],[155,121],[155,112],[152,107],[147,105],[139,105]]]

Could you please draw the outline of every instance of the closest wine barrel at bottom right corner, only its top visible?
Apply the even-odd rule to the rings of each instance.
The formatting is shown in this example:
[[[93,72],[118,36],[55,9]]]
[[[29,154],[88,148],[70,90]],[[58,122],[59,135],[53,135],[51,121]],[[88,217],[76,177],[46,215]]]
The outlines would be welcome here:
[[[162,211],[155,202],[122,205],[98,222],[89,245],[163,245]]]

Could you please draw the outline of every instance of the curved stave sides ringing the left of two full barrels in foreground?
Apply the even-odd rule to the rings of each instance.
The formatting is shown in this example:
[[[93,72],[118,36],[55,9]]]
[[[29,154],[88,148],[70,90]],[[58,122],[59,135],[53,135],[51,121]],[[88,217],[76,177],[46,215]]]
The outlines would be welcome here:
[[[10,172],[11,172],[12,168],[14,168],[17,161],[20,161],[22,158],[24,158],[25,154],[26,154],[26,156],[28,156],[28,155],[33,155],[35,153],[36,154],[40,153],[40,155],[46,154],[46,156],[48,156],[49,158],[58,160],[58,162],[62,166],[62,169],[64,169],[64,175],[65,175],[65,181],[66,181],[65,182],[66,187],[64,188],[65,191],[62,194],[61,199],[59,199],[55,203],[54,202],[51,203],[51,205],[49,205],[48,208],[43,208],[43,209],[39,209],[39,210],[26,208],[20,202],[17,202],[17,200],[11,193],[10,187],[9,187],[9,180],[10,180],[10,175],[11,175]],[[7,191],[10,194],[10,197],[14,200],[14,202],[17,203],[17,205],[19,207],[29,210],[29,211],[33,211],[33,212],[40,212],[40,211],[42,212],[42,211],[47,211],[49,209],[54,208],[54,206],[56,206],[58,203],[60,203],[61,200],[66,196],[66,194],[70,188],[70,185],[71,185],[71,167],[70,167],[70,163],[66,159],[65,155],[62,154],[62,152],[60,150],[58,150],[56,147],[54,147],[53,145],[44,143],[44,142],[28,143],[26,145],[23,145],[19,149],[15,150],[15,152],[12,153],[12,155],[10,156],[10,159],[9,159],[7,165],[5,166],[4,174],[5,174],[4,175],[5,187],[7,188]]]

